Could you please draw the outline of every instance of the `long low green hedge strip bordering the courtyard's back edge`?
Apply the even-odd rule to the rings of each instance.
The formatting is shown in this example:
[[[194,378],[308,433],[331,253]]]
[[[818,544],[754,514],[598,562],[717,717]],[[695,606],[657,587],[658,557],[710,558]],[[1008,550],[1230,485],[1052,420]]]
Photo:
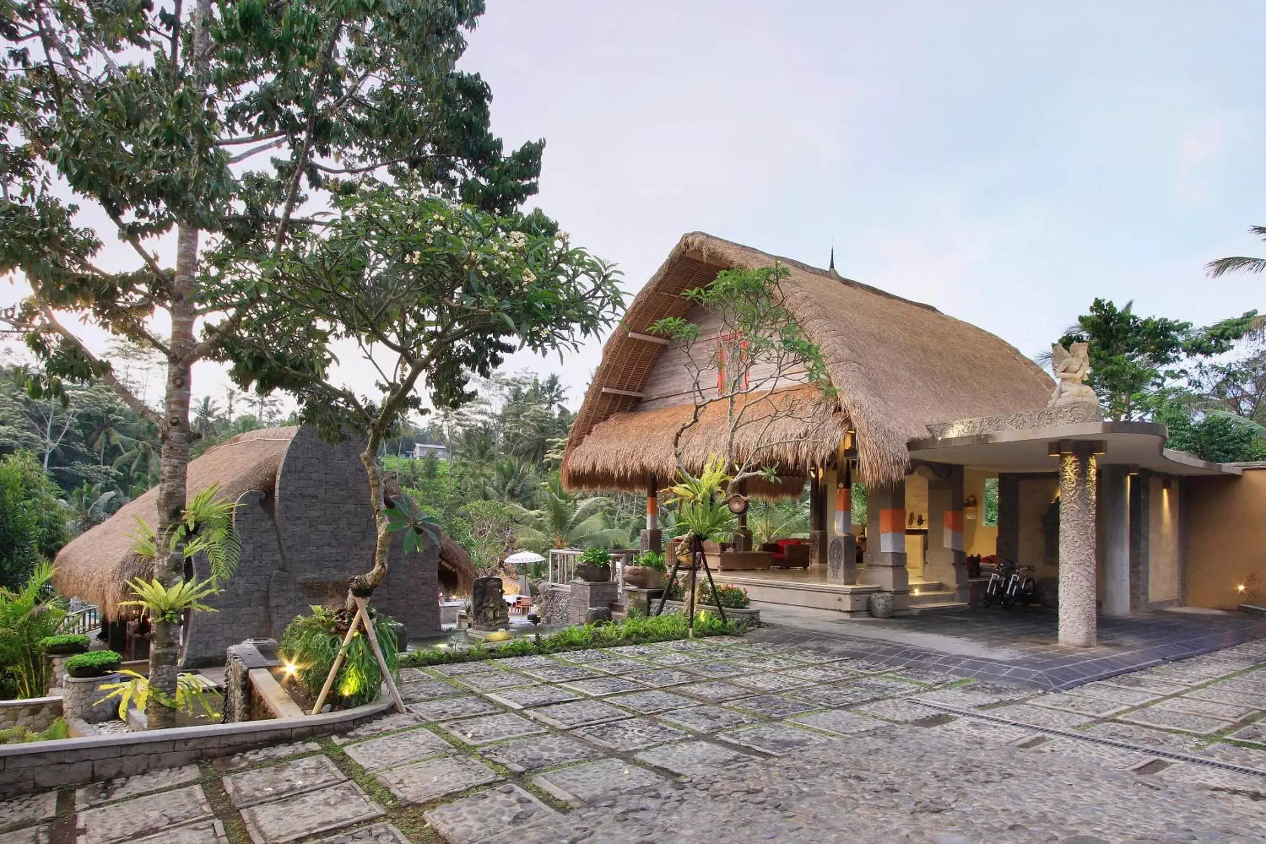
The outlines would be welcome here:
[[[695,616],[696,636],[741,635],[733,621],[722,623],[715,615],[699,612]],[[537,654],[584,650],[585,648],[614,648],[618,645],[644,644],[647,642],[671,642],[685,639],[686,616],[681,614],[657,615],[620,621],[619,624],[585,624],[567,628],[547,636],[522,638],[505,644],[475,644],[466,649],[427,648],[400,654],[400,667],[438,666],[451,662],[476,662],[501,657],[533,657]]]

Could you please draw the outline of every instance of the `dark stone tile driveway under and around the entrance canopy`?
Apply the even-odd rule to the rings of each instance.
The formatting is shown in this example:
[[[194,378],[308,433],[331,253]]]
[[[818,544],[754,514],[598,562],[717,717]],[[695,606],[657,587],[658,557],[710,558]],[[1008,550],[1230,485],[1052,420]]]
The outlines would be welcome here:
[[[761,615],[766,626],[752,640],[1043,690],[1072,688],[1266,638],[1263,619],[1181,611],[1100,619],[1094,648],[1061,645],[1057,611],[1044,607],[856,621],[766,604]]]

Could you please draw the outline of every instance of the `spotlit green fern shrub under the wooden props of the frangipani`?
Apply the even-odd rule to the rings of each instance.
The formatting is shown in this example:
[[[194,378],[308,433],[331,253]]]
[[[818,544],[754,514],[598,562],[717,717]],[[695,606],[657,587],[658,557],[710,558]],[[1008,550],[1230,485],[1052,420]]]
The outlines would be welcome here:
[[[282,657],[294,666],[300,685],[315,701],[322,686],[325,685],[329,669],[334,666],[353,614],[324,606],[314,606],[311,610],[311,615],[300,615],[290,623],[281,635],[280,649]],[[382,648],[382,657],[394,674],[398,662],[395,621],[372,610],[370,615],[379,645]],[[347,658],[334,677],[329,704],[333,709],[362,706],[377,700],[381,683],[382,671],[373,657],[373,649],[365,630],[357,630],[347,649]]]

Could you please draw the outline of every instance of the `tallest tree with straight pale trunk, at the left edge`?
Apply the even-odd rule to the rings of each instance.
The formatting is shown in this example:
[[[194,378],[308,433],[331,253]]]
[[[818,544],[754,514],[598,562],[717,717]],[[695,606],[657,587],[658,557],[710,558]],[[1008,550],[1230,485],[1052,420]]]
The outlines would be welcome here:
[[[0,6],[0,273],[20,272],[34,292],[9,316],[47,364],[43,388],[101,378],[161,431],[165,585],[184,572],[166,538],[186,504],[192,366],[267,287],[222,267],[275,267],[291,238],[322,227],[308,210],[357,182],[410,175],[492,210],[536,191],[542,143],[503,154],[487,86],[454,68],[482,10],[482,0]],[[77,224],[84,208],[109,233]],[[106,270],[108,248],[111,266],[120,249],[133,266]],[[161,407],[89,349],[65,310],[162,356]],[[152,636],[149,680],[171,698],[173,628],[158,620]],[[149,724],[167,726],[157,700]]]

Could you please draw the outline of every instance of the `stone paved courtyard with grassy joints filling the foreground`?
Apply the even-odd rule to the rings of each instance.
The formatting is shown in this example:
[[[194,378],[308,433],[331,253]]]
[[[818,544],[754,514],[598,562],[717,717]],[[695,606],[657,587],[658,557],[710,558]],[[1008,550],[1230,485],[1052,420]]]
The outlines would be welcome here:
[[[401,680],[332,740],[0,804],[0,844],[1266,840],[1266,642],[1058,692],[768,630]]]

